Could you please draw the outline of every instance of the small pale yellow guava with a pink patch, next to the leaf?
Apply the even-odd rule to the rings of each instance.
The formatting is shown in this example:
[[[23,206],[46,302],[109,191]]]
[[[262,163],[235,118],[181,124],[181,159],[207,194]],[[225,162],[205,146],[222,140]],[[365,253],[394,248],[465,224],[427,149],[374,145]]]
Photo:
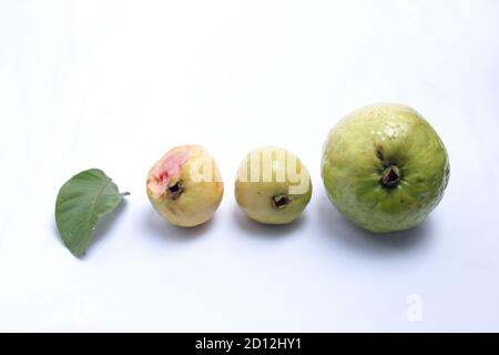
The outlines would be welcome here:
[[[156,212],[179,226],[208,221],[224,193],[215,161],[200,145],[182,145],[169,151],[149,171],[146,186]]]

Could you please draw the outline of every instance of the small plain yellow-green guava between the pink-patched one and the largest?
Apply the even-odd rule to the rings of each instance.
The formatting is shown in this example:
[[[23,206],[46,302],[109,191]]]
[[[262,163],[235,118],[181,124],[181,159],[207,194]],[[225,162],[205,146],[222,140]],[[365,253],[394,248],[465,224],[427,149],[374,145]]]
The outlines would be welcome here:
[[[292,152],[264,146],[249,152],[241,163],[234,192],[249,219],[286,224],[296,220],[310,201],[310,175]]]

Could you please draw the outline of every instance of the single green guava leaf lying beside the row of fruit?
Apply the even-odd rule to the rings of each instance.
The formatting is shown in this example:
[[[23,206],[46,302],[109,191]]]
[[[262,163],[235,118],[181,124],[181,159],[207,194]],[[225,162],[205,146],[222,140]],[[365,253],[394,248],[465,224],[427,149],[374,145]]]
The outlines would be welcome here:
[[[71,178],[59,190],[55,224],[64,245],[75,256],[82,255],[93,240],[100,219],[114,211],[128,192],[99,169],[90,169]]]

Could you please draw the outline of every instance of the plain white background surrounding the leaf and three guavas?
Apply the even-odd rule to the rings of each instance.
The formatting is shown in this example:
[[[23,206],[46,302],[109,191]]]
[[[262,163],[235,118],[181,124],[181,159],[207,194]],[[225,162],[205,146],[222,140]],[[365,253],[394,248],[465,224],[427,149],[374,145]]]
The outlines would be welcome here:
[[[0,1],[0,331],[499,331],[498,18],[492,0]],[[385,236],[319,175],[329,129],[377,101],[421,112],[451,162],[430,217]],[[225,180],[194,230],[145,194],[184,143]],[[235,204],[263,144],[313,175],[292,225]],[[132,195],[79,260],[53,210],[89,168]]]

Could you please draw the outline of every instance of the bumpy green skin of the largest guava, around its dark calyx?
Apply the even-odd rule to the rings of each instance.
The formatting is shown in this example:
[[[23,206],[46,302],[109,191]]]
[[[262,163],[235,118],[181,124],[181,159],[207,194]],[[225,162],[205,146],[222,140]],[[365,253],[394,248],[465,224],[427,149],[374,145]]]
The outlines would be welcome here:
[[[396,166],[399,181],[383,183]],[[324,145],[322,176],[336,209],[373,233],[421,223],[449,180],[446,148],[432,126],[403,104],[378,103],[340,120]]]

